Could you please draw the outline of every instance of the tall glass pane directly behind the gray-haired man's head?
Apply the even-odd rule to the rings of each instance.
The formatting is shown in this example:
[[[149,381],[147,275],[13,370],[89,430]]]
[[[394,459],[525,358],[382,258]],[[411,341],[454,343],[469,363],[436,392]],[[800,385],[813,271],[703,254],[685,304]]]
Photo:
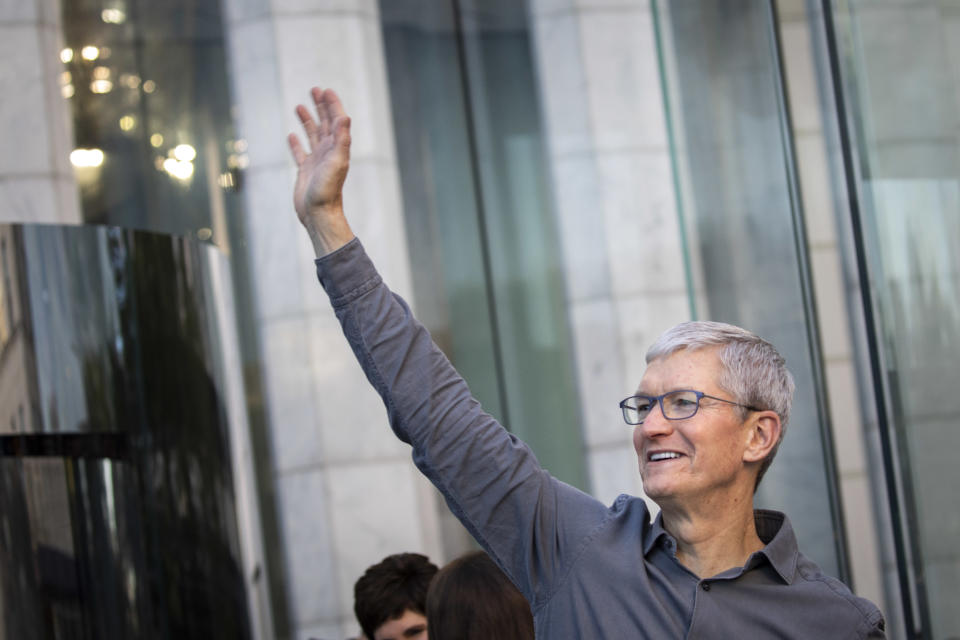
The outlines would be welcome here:
[[[804,553],[838,575],[770,6],[671,0],[657,7],[697,316],[770,340],[797,382],[757,505],[785,511]]]

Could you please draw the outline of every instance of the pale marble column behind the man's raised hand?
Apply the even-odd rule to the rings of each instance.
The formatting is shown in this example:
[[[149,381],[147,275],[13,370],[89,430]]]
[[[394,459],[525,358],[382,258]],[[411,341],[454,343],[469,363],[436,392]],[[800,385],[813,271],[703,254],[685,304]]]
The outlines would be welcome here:
[[[346,344],[293,211],[297,103],[333,87],[353,120],[344,203],[390,286],[410,269],[375,0],[229,0],[227,33],[290,636],[356,634],[353,583],[385,555],[438,558],[435,494]],[[387,526],[384,525],[387,523]]]

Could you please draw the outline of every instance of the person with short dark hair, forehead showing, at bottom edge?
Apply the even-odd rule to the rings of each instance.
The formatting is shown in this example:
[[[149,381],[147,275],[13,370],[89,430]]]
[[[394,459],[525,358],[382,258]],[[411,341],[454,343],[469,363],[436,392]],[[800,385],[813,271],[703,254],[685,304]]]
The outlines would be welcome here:
[[[353,587],[364,640],[427,640],[427,590],[437,566],[419,553],[387,556]]]

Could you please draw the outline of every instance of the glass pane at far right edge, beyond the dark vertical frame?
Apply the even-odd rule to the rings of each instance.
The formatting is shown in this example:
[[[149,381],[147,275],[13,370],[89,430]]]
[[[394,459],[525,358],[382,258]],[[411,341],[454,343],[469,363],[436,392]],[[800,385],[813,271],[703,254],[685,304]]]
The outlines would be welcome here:
[[[836,2],[833,18],[919,618],[924,637],[948,637],[960,629],[960,7]]]

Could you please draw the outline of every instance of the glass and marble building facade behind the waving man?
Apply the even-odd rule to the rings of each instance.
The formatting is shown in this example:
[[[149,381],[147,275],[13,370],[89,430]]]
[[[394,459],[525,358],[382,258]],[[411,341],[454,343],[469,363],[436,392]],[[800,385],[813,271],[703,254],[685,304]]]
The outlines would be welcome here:
[[[470,546],[312,273],[316,84],[354,229],[546,468],[642,494],[647,345],[746,326],[797,380],[758,506],[960,635],[956,2],[7,5],[0,638],[347,637],[366,566]]]

